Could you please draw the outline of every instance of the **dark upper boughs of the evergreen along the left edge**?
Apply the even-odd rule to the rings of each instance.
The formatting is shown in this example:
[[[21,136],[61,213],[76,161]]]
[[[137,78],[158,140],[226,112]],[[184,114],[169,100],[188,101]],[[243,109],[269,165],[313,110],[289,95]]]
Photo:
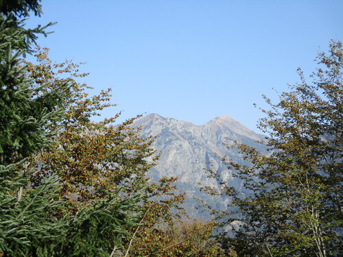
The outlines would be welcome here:
[[[60,85],[43,96],[34,97],[37,90],[28,79],[27,67],[21,57],[28,51],[26,34],[21,22],[12,15],[0,14],[0,164],[7,165],[31,156],[47,145],[51,134],[47,126],[61,117],[62,103],[69,85]],[[39,29],[37,30],[39,33]]]

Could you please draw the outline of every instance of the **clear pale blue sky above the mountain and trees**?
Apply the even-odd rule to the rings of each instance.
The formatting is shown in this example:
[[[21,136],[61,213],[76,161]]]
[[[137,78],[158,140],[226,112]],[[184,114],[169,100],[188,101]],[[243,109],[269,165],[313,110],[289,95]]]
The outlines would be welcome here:
[[[95,93],[113,89],[122,118],[157,113],[203,124],[221,115],[257,131],[262,94],[314,71],[343,40],[343,1],[43,0],[27,25],[56,21],[38,43],[51,59],[87,62]],[[274,88],[274,90],[272,89]]]

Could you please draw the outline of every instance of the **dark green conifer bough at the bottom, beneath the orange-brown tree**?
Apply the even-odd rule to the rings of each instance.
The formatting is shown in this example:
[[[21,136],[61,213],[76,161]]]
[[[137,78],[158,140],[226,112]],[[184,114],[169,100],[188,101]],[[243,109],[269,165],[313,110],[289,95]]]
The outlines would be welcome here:
[[[119,192],[98,201],[91,208],[82,208],[67,226],[59,256],[107,257],[114,248],[123,249],[126,228],[139,225],[140,212],[132,214],[143,193],[123,199]]]

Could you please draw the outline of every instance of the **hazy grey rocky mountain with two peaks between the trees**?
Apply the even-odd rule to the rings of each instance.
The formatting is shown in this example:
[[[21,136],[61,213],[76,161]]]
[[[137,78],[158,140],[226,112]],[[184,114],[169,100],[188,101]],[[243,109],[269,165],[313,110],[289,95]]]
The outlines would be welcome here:
[[[187,121],[164,118],[158,114],[149,114],[134,123],[134,127],[142,127],[142,136],[157,136],[153,147],[162,151],[158,166],[150,171],[153,179],[165,176],[177,176],[177,186],[189,197],[206,198],[213,206],[224,208],[228,199],[215,199],[200,193],[198,182],[207,186],[218,186],[215,180],[207,178],[205,168],[219,170],[228,184],[239,188],[241,181],[233,178],[221,158],[228,156],[237,162],[242,162],[237,150],[227,149],[223,143],[236,140],[263,150],[265,147],[257,140],[263,136],[249,130],[244,125],[228,116],[217,117],[206,124],[194,125]],[[228,139],[229,138],[229,139]],[[189,201],[187,209],[191,215],[199,216],[194,207],[195,202]]]

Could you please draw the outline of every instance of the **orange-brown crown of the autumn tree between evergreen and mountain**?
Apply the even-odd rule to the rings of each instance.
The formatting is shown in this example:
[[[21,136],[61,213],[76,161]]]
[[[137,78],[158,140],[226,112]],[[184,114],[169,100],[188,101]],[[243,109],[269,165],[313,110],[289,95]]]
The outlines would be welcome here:
[[[38,51],[36,57],[38,64],[27,64],[29,76],[37,84],[58,87],[66,79],[86,75],[78,74],[78,65],[72,62],[52,64],[47,58],[47,49]],[[108,199],[119,188],[122,196],[141,190],[146,184],[145,173],[156,159],[152,157],[151,162],[147,161],[155,152],[150,148],[152,138],[143,139],[130,127],[134,119],[114,125],[117,114],[104,121],[91,121],[91,117],[112,105],[108,103],[110,90],[89,97],[87,89],[90,88],[85,84],[72,84],[64,118],[51,127],[57,133],[53,142],[32,160],[33,164],[38,164],[33,184],[39,184],[51,173],[58,175],[62,186],[60,195],[69,199],[71,213],[99,199]],[[38,92],[40,94],[44,92]]]

